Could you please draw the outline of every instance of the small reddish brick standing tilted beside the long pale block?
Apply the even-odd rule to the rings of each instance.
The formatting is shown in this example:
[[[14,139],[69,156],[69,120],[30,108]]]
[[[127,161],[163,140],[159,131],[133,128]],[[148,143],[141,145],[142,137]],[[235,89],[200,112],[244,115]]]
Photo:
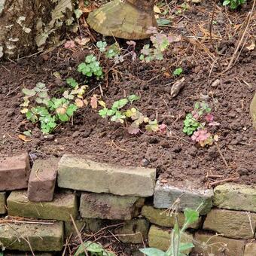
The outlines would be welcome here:
[[[35,160],[29,176],[28,198],[33,202],[50,202],[56,182],[58,159]]]

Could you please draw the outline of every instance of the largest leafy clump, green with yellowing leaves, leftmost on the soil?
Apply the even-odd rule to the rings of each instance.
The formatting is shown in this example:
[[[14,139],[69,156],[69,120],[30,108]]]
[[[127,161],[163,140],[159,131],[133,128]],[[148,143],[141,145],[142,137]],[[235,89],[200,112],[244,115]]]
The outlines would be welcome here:
[[[87,105],[84,99],[86,85],[79,86],[74,78],[68,78],[67,84],[72,90],[65,90],[60,98],[50,98],[45,84],[38,83],[32,89],[24,88],[21,113],[32,123],[40,123],[41,132],[52,133],[58,123],[68,122],[78,108]]]

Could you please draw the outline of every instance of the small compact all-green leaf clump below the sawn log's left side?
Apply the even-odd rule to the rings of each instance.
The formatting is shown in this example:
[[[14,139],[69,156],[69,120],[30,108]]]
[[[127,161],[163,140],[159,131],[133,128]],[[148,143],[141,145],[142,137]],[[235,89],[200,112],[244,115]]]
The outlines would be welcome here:
[[[96,76],[96,79],[103,77],[102,67],[97,61],[96,56],[93,54],[87,55],[85,62],[81,62],[78,66],[78,72],[81,72],[83,75],[91,78],[93,75]]]

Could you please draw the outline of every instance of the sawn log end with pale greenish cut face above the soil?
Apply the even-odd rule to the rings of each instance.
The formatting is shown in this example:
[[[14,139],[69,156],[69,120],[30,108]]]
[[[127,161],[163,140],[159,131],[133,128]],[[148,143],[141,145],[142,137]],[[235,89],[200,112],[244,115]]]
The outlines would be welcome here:
[[[89,14],[87,23],[102,35],[125,39],[149,38],[157,27],[154,0],[114,0]]]

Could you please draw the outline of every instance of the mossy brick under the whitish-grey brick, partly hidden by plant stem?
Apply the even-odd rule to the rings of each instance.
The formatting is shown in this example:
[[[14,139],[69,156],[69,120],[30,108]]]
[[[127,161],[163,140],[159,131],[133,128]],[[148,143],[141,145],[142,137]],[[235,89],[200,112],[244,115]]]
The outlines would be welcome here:
[[[143,206],[142,207],[142,215],[148,219],[149,222],[153,224],[157,224],[162,227],[174,227],[175,218],[174,216],[167,215],[166,209],[156,209],[153,206]],[[184,214],[182,212],[178,212],[178,224],[180,227],[184,224]],[[188,228],[197,229],[200,227],[202,219],[195,222],[194,224],[190,224]]]

